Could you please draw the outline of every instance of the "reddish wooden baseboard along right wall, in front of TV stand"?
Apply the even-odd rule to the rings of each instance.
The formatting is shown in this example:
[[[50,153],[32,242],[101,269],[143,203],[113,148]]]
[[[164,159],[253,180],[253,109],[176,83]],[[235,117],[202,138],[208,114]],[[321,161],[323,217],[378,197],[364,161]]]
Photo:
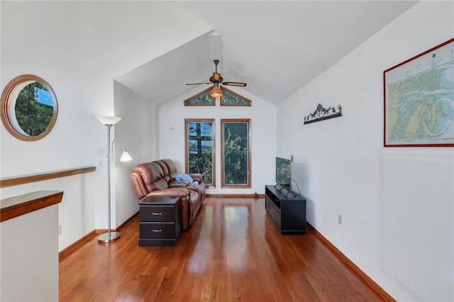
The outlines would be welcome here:
[[[348,259],[347,256],[343,255],[343,252],[338,250],[338,248],[336,246],[334,246],[331,242],[329,242],[329,240],[326,239],[326,237],[321,235],[321,233],[319,233],[319,231],[316,230],[316,228],[314,228],[314,226],[312,226],[310,223],[306,223],[306,224],[307,224],[308,230],[311,233],[314,233],[315,237],[318,240],[320,240],[320,242],[322,242],[323,245],[328,247],[328,249],[331,250],[331,252],[333,252],[333,254],[336,255],[336,257],[338,257],[338,259],[341,260],[341,262],[343,262],[346,266],[350,267],[350,269],[352,269],[353,272],[355,272],[355,274],[360,279],[362,279],[362,281],[364,281],[365,284],[367,284],[367,286],[370,287],[370,289],[372,289],[372,291],[375,291],[375,293],[377,293],[380,297],[382,297],[382,299],[384,301],[396,302],[396,300],[394,298],[392,298],[392,296],[390,296],[389,293],[384,291],[384,289],[382,289],[377,283],[375,283],[375,281],[373,281],[370,278],[370,276],[367,276],[367,274],[365,274],[365,272],[362,272],[362,270],[355,263],[353,263],[350,259]]]

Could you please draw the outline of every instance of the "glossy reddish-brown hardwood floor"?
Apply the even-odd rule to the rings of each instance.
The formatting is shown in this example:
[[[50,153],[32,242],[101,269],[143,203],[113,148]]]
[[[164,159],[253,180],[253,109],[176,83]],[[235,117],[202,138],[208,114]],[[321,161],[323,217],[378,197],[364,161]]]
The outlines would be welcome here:
[[[206,198],[175,247],[96,236],[60,261],[60,301],[382,301],[309,231],[280,235],[263,198]]]

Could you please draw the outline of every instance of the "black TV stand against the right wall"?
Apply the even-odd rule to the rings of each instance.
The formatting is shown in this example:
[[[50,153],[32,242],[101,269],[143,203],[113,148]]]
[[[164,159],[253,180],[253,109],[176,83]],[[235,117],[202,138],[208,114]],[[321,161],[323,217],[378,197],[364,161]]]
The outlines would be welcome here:
[[[306,233],[306,199],[284,186],[265,186],[267,216],[282,235]]]

